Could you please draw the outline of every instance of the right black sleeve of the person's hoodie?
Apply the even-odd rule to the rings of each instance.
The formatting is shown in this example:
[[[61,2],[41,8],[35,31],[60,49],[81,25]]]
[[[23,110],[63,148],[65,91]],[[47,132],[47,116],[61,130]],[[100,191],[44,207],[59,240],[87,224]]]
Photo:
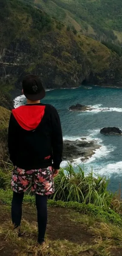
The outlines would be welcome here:
[[[61,129],[61,122],[57,110],[53,107],[51,111],[52,124],[52,152],[54,169],[60,169],[63,154],[63,136]]]

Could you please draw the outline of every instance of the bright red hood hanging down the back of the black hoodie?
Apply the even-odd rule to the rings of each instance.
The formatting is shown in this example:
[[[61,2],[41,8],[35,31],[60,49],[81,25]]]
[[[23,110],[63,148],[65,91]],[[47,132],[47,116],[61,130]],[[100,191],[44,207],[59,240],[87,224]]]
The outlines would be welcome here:
[[[32,105],[20,106],[12,110],[18,124],[25,130],[31,131],[40,124],[45,114],[45,106]]]

